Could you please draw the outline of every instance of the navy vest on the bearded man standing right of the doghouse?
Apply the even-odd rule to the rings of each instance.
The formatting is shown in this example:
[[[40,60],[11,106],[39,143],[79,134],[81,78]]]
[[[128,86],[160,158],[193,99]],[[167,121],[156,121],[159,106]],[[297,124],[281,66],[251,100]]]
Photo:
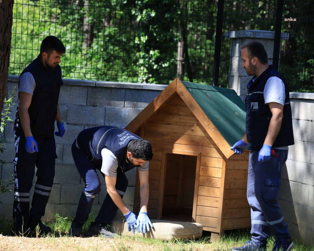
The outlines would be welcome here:
[[[292,113],[289,98],[289,88],[284,77],[276,71],[272,65],[256,78],[248,83],[248,93],[245,98],[246,105],[246,138],[248,141],[247,148],[249,150],[260,150],[265,141],[272,113],[269,105],[265,104],[264,87],[268,78],[279,77],[284,82],[285,96],[284,100],[284,117],[281,123],[279,134],[273,143],[275,147],[285,147],[294,144],[292,129]]]

